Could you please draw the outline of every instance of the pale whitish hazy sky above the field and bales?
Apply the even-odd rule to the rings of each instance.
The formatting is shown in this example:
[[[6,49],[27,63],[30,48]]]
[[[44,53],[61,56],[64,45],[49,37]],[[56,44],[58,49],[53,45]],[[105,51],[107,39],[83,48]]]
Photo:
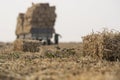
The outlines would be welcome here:
[[[120,31],[120,0],[1,0],[0,42],[16,39],[17,16],[33,3],[56,6],[56,32],[61,42],[80,42],[81,37],[103,28]]]

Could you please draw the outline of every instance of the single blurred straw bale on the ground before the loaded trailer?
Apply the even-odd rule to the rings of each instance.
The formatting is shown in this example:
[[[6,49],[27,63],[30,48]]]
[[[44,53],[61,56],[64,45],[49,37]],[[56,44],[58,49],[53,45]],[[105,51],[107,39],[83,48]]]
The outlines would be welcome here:
[[[17,39],[14,41],[14,50],[24,52],[38,52],[40,44],[40,41],[37,40]]]

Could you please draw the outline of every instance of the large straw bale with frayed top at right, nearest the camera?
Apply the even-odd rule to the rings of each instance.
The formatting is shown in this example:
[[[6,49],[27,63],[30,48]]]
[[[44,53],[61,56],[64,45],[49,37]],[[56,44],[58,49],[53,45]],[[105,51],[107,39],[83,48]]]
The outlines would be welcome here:
[[[83,37],[83,54],[96,59],[120,60],[120,32],[104,30]]]

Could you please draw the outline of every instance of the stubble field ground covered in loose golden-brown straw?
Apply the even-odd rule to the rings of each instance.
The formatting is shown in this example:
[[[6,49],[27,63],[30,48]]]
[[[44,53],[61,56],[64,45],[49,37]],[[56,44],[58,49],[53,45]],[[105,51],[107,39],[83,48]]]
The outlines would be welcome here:
[[[0,47],[0,80],[120,80],[120,62],[82,54],[81,43],[41,46],[40,52]]]

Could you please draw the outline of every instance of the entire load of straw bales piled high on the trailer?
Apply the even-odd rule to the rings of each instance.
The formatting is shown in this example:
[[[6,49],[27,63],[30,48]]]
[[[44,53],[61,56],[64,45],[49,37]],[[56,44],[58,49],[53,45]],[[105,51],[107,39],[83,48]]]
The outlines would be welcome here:
[[[56,20],[55,6],[48,3],[33,4],[25,14],[20,14],[17,19],[16,34],[30,33],[32,28],[54,30]]]

